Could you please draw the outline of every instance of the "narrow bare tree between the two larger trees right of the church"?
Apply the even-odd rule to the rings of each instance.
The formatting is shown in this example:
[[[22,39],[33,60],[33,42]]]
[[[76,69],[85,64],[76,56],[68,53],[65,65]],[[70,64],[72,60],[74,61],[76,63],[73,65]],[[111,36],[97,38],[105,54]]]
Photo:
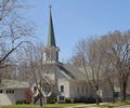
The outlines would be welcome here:
[[[112,56],[109,55],[110,51],[110,44],[109,41],[107,41],[107,36],[102,36],[100,38],[100,41],[102,41],[102,45],[104,45],[104,59],[103,59],[103,64],[102,67],[104,68],[104,72],[103,72],[103,78],[106,79],[106,83],[109,84],[110,89],[112,89],[112,94],[113,94],[113,103],[115,103],[115,82],[117,82],[116,79],[116,67],[115,67],[115,58],[112,58]],[[100,42],[99,41],[99,42]],[[106,84],[104,83],[104,84]]]

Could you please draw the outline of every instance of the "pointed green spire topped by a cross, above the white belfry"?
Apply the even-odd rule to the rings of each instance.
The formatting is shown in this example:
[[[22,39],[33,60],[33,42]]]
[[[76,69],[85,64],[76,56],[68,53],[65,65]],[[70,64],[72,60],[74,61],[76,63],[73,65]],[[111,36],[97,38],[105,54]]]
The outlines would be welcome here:
[[[53,23],[52,23],[52,15],[51,15],[51,8],[52,5],[50,4],[50,19],[49,19],[49,28],[48,28],[48,39],[47,39],[47,48],[52,48],[55,46],[55,38],[54,38],[54,29],[53,29]]]

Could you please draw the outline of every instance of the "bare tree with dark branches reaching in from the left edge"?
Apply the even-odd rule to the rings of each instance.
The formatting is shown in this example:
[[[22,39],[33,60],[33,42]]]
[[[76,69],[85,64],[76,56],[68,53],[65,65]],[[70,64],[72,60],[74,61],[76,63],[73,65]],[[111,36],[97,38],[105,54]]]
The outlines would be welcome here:
[[[23,1],[0,1],[0,68],[16,67],[18,49],[30,43],[30,38],[35,36],[34,25],[20,15]]]

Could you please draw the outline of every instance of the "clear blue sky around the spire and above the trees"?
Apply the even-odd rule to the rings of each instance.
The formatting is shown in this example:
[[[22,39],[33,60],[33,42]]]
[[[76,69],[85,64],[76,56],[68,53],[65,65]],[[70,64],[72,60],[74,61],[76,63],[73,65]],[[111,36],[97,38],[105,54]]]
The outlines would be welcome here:
[[[49,5],[60,59],[68,59],[78,40],[108,31],[130,29],[130,0],[28,0],[26,17],[34,21],[37,37],[46,44]]]

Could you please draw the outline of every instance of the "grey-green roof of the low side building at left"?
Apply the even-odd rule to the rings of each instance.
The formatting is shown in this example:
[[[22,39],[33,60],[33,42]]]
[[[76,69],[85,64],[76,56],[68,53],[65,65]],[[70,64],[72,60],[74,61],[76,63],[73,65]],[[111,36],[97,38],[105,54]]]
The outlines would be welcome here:
[[[29,89],[29,83],[25,81],[4,79],[1,81],[0,89]]]

